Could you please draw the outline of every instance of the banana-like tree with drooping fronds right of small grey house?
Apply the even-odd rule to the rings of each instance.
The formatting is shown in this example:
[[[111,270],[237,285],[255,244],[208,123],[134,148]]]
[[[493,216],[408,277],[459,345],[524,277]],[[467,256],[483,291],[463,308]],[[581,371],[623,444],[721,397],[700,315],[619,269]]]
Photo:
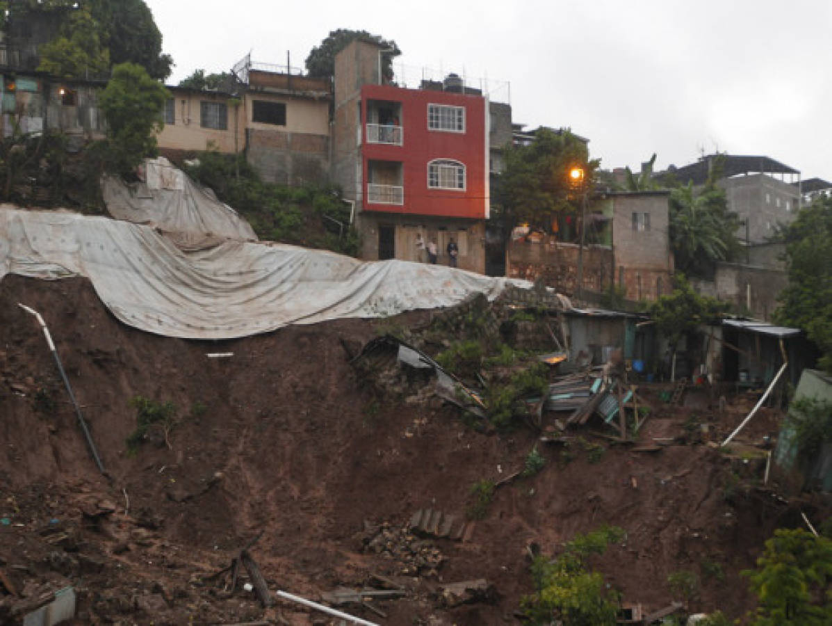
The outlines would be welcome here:
[[[740,249],[739,221],[728,211],[726,192],[708,181],[700,190],[693,183],[671,191],[671,248],[676,268],[693,276],[710,276],[716,261],[728,261]]]

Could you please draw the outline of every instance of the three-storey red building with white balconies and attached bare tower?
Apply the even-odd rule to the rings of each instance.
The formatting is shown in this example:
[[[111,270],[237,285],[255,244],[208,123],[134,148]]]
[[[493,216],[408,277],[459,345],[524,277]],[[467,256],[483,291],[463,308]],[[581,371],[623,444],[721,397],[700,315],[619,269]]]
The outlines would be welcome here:
[[[458,266],[483,272],[488,99],[454,74],[397,87],[382,76],[388,53],[356,40],[335,57],[332,179],[355,202],[362,256],[417,261],[421,239],[448,263],[453,237]]]

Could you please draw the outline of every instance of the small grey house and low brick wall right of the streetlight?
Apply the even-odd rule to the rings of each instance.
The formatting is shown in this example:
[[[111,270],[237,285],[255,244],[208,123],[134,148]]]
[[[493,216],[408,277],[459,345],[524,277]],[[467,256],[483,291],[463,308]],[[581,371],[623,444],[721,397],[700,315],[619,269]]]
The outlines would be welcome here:
[[[582,254],[577,214],[557,216],[553,234],[513,237],[506,276],[542,278],[547,286],[574,295],[582,256],[583,291],[602,293],[613,283],[628,300],[656,300],[671,291],[669,196],[669,191],[622,191],[593,198]]]

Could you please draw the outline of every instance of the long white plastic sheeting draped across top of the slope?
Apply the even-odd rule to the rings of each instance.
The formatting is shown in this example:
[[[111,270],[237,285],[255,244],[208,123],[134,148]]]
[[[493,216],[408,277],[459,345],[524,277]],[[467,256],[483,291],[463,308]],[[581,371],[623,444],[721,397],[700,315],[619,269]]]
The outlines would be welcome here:
[[[230,339],[290,324],[453,306],[508,284],[410,261],[225,241],[182,251],[151,226],[0,206],[0,278],[86,276],[113,315],[158,335]]]

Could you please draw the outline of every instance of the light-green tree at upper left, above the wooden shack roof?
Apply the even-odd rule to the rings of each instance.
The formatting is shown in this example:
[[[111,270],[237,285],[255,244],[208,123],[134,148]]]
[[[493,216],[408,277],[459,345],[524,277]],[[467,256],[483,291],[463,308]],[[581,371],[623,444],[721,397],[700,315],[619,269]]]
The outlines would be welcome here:
[[[69,15],[57,37],[40,50],[40,72],[64,78],[101,75],[110,69],[110,52],[102,45],[101,27],[89,9]]]

